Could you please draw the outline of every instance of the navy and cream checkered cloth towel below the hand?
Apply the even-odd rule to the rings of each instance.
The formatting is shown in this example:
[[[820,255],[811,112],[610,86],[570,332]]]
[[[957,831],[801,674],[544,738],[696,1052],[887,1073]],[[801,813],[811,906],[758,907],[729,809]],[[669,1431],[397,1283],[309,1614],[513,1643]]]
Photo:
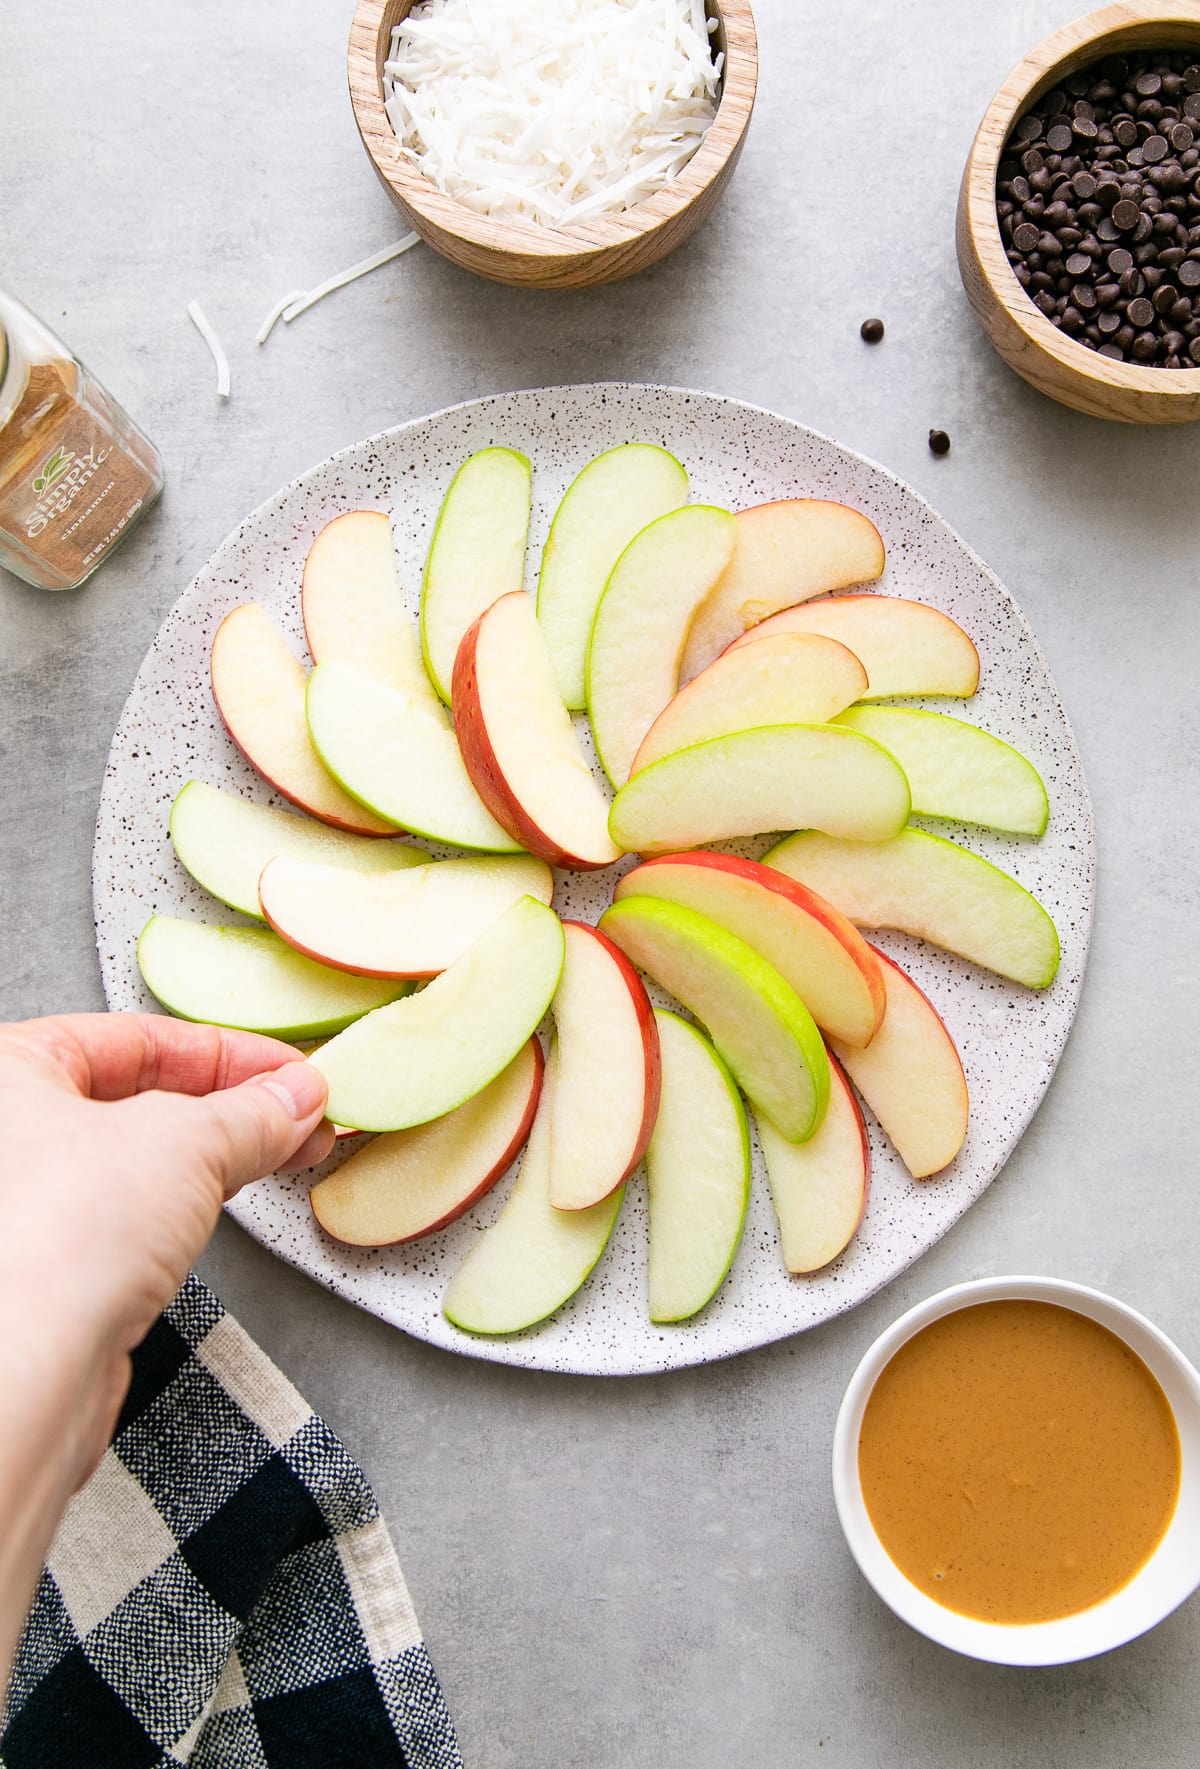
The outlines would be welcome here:
[[[462,1769],[375,1498],[198,1277],[133,1357],[0,1769]]]

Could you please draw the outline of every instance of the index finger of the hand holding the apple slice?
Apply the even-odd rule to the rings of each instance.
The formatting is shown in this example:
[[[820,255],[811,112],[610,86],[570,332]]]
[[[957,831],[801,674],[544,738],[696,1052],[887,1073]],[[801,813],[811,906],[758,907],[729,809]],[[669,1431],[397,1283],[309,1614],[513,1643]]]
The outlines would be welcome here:
[[[57,1014],[21,1031],[42,1045],[80,1093],[96,1100],[165,1093],[218,1093],[301,1054],[257,1031],[198,1026],[165,1014]]]

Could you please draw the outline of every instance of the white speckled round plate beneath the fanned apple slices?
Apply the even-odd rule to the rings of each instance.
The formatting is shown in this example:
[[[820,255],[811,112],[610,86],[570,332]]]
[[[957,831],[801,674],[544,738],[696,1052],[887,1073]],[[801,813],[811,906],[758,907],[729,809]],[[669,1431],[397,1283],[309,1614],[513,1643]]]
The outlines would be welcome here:
[[[419,1339],[504,1364],[612,1376],[729,1357],[862,1302],[931,1247],[991,1183],[1062,1054],[1092,923],[1094,833],[1087,785],[1030,628],[958,534],[915,492],[860,455],[786,417],[706,393],[625,384],[549,387],[474,400],[402,425],[343,449],[262,504],[179,598],[120,716],[94,853],[96,930],[108,1005],[154,1007],[135,962],[135,939],[145,918],[161,911],[234,920],[189,881],[172,853],[166,817],[173,794],[196,777],[248,798],[269,798],[225,736],[209,695],[209,646],[221,616],[239,601],[258,600],[303,647],[299,578],[308,545],[331,517],[361,506],[391,511],[402,578],[416,614],[421,563],[442,492],[464,456],[488,442],[524,449],[535,463],[527,578],[533,586],[550,515],[572,476],[591,455],[634,439],[662,442],[678,455],[696,499],[736,509],[816,494],[855,504],[887,541],[888,566],[880,587],[931,601],[972,633],[982,656],[977,697],[966,704],[929,704],[986,725],[1030,755],[1050,789],[1050,830],[1034,842],[942,828],[1041,897],[1058,925],[1062,968],[1051,989],[1032,992],[919,941],[880,936],[880,945],[931,996],[963,1054],[972,1095],[966,1145],[945,1175],[913,1182],[871,1125],[871,1199],[862,1229],[834,1267],[800,1279],[784,1274],[756,1153],[742,1249],[724,1288],[692,1325],[655,1327],[648,1320],[641,1178],[630,1183],[612,1242],[582,1291],[552,1321],[512,1339],[474,1339],[441,1313],[448,1277],[499,1212],[508,1180],[444,1233],[368,1252],[342,1247],[317,1229],[306,1203],[306,1176],[264,1180],[230,1205],[232,1215],[280,1258]],[[761,853],[765,846],[749,851]],[[595,922],[611,886],[607,872],[559,874],[556,907]]]

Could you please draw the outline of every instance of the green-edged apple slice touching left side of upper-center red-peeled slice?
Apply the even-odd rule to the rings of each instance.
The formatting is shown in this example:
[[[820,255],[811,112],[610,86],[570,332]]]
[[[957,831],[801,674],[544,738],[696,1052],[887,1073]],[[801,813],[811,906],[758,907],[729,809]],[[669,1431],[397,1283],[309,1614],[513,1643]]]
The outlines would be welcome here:
[[[471,785],[442,709],[373,681],[349,663],[319,663],[308,683],[313,745],[347,793],[432,842],[485,853],[520,844]]]

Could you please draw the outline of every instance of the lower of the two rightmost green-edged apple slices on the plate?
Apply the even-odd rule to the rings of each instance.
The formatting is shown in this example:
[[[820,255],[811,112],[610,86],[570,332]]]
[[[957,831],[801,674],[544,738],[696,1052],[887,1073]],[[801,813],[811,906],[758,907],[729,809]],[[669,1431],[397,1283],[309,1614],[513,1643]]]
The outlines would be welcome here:
[[[802,830],[763,865],[828,897],[858,927],[896,927],[1030,989],[1055,980],[1058,934],[1037,899],[940,835],[903,830],[888,842],[839,842]]]

